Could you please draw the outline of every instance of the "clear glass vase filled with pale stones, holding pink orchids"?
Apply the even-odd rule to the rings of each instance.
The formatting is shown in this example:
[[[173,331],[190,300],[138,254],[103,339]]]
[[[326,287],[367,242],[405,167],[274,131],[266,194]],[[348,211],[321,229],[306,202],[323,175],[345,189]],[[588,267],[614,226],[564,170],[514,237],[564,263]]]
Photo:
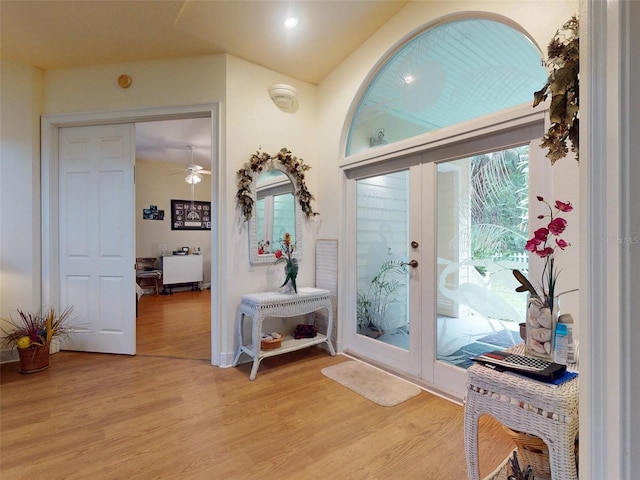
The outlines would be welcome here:
[[[560,305],[558,297],[529,296],[525,352],[548,362],[553,361],[554,338]]]

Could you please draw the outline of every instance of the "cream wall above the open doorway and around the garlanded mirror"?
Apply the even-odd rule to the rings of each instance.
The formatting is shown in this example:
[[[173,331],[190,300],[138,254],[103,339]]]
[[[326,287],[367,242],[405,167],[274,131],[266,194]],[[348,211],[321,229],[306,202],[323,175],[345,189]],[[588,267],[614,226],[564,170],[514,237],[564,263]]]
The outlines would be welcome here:
[[[133,79],[129,89],[117,86],[116,80],[122,73]],[[273,104],[267,88],[274,83],[296,87],[299,96],[296,111],[283,112]],[[214,315],[221,318],[222,364],[228,365],[235,351],[233,322],[240,297],[252,291],[275,289],[282,282],[280,268],[249,265],[247,225],[240,220],[235,203],[236,171],[261,146],[272,154],[287,147],[310,165],[318,166],[315,87],[229,55],[56,70],[45,75],[47,114],[214,102],[222,105],[220,183],[213,186],[222,195],[220,226],[212,230],[220,242],[220,250],[212,255],[218,255],[222,267],[220,285],[214,286],[219,288],[222,301]],[[318,170],[313,168],[306,178],[314,193]],[[158,204],[160,207],[160,201]],[[313,284],[315,229],[316,222],[305,226],[308,247],[300,264],[302,285]],[[152,246],[149,248],[153,250]]]

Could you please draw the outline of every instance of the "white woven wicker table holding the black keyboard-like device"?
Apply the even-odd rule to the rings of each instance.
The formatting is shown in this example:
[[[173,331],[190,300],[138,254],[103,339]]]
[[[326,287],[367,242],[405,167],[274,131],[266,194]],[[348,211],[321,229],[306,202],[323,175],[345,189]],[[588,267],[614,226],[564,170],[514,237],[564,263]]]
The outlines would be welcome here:
[[[524,344],[508,351],[524,355]],[[577,370],[577,365],[569,365]],[[540,437],[549,447],[553,480],[576,480],[578,378],[551,387],[522,376],[473,365],[468,370],[464,442],[470,480],[479,480],[478,419],[487,413],[512,430]]]

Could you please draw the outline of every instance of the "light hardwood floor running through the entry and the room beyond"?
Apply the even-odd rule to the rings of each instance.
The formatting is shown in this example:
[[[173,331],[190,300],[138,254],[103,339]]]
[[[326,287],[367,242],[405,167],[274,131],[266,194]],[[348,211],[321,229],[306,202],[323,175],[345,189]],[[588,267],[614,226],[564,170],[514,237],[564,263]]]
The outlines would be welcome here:
[[[167,312],[180,298],[147,300]],[[426,392],[377,406],[324,377],[348,359],[315,348],[265,359],[250,382],[249,364],[209,364],[208,324],[187,323],[197,312],[142,327],[147,306],[136,356],[61,352],[31,375],[2,365],[3,480],[466,478],[462,407]],[[486,416],[480,444],[483,475],[513,448]]]

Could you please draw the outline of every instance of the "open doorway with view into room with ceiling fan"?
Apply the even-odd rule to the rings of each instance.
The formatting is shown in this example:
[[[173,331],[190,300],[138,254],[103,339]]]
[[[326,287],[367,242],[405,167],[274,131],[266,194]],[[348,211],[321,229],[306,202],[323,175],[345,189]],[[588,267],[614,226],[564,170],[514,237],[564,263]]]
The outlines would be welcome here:
[[[138,355],[211,359],[211,128],[210,118],[135,125],[135,255],[165,270],[138,282]],[[163,269],[169,260],[180,278]]]

